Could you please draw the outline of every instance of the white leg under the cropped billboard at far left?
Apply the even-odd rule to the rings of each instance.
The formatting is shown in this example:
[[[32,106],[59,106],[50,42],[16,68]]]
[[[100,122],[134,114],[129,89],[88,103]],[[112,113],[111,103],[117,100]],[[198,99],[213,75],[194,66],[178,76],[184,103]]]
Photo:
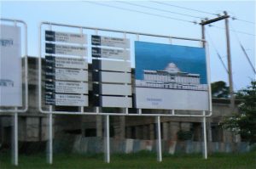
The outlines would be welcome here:
[[[17,108],[15,108],[17,110]],[[18,113],[15,112],[14,114],[14,124],[13,124],[13,150],[12,150],[12,163],[15,166],[18,166],[19,161],[18,161],[18,154],[19,154],[19,148],[18,148]]]

